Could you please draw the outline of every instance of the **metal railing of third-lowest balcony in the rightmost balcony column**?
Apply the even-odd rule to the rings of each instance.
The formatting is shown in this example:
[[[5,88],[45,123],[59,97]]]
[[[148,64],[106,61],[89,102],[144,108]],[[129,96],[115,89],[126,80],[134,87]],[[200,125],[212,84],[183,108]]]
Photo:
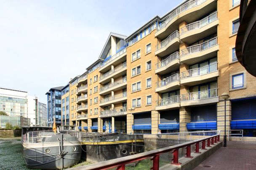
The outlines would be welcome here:
[[[208,41],[203,42],[202,44],[193,45],[181,50],[181,57],[184,55],[192,54],[194,52],[200,52],[200,51],[206,50],[215,45],[217,45],[217,37],[213,39],[209,39]]]

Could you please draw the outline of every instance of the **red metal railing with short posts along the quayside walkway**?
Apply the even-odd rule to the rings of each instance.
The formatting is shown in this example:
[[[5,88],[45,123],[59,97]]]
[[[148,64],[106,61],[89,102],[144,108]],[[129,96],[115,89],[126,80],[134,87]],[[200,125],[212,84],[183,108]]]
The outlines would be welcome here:
[[[186,151],[187,151],[186,157],[192,158],[191,157],[191,145],[195,144],[195,153],[201,153],[201,152],[199,152],[200,142],[202,142],[202,149],[205,149],[205,143],[206,143],[205,141],[207,141],[207,147],[211,147],[211,145],[215,145],[215,143],[218,143],[218,141],[220,141],[220,135],[217,134],[217,135],[213,135],[213,136],[210,136],[210,137],[207,137],[204,139],[199,139],[196,141],[189,141],[189,142],[186,142],[183,144],[168,146],[165,148],[156,149],[156,150],[149,151],[149,152],[143,152],[140,154],[130,155],[127,157],[121,157],[121,158],[117,158],[114,160],[98,162],[98,163],[94,163],[94,164],[86,165],[86,166],[82,166],[82,167],[75,167],[75,168],[71,168],[69,170],[107,170],[107,169],[114,168],[114,167],[117,168],[116,170],[125,170],[126,164],[140,161],[140,160],[145,160],[145,159],[151,158],[151,157],[152,157],[151,160],[153,161],[153,167],[150,169],[159,170],[160,154],[173,151],[173,160],[172,160],[171,164],[180,165],[181,164],[181,163],[179,163],[179,149],[180,148],[186,147]]]

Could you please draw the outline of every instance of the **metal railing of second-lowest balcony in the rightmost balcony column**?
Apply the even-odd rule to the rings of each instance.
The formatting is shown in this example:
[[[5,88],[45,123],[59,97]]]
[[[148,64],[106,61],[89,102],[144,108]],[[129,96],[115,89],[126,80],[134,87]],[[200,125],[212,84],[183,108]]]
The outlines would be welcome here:
[[[206,65],[201,68],[195,68],[187,71],[183,71],[181,73],[181,79],[188,78],[188,77],[195,77],[195,76],[201,76],[204,74],[212,73],[214,71],[218,70],[218,63],[213,63],[210,65]]]

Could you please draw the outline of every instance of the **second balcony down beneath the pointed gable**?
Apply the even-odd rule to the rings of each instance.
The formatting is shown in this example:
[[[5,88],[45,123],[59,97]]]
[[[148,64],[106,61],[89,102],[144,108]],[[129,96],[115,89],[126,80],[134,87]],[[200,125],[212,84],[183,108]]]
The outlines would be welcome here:
[[[114,69],[104,73],[102,76],[99,77],[99,83],[107,83],[110,81],[111,78],[117,78],[126,74],[127,65],[126,62],[118,65]]]

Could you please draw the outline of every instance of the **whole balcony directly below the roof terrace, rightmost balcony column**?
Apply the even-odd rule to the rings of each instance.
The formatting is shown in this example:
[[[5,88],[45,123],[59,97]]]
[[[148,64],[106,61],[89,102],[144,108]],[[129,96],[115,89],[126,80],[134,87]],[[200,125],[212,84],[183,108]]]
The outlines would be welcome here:
[[[215,12],[200,21],[182,27],[180,39],[182,42],[192,44],[203,39],[206,35],[216,33],[218,25],[219,19],[217,18],[217,12]]]

